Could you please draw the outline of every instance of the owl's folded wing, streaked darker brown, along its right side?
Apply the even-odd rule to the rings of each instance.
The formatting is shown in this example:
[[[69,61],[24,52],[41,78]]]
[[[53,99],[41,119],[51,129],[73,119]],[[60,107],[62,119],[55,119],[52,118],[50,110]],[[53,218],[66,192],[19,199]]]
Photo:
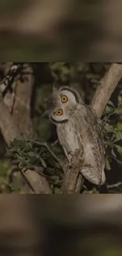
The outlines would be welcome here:
[[[98,176],[98,184],[101,184],[102,177],[105,180],[105,147],[102,128],[90,106],[82,104],[79,109],[76,109],[75,119],[78,122],[76,129],[81,133],[81,140],[85,140],[86,136],[86,142],[92,145],[95,160],[94,172]]]

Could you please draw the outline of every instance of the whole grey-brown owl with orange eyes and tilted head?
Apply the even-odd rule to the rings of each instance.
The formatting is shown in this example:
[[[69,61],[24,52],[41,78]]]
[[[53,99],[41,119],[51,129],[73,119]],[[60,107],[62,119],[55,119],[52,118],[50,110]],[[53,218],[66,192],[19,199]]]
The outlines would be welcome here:
[[[94,111],[84,104],[78,91],[68,86],[54,88],[49,118],[56,125],[57,136],[68,162],[79,150],[84,163],[89,165],[79,170],[82,176],[99,187],[105,184],[102,130]]]

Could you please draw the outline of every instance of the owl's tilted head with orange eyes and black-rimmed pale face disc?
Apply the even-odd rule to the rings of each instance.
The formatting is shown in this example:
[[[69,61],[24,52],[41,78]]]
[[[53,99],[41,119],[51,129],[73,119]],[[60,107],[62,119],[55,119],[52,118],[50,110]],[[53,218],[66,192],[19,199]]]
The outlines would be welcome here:
[[[54,124],[67,122],[82,100],[79,93],[71,87],[54,88],[50,100],[49,118]]]

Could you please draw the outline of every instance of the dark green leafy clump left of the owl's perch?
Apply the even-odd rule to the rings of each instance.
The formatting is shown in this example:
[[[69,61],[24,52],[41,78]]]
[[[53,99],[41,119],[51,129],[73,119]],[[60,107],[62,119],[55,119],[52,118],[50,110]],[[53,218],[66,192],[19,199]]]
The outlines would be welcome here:
[[[50,145],[51,147],[51,145]],[[50,150],[50,152],[52,152]],[[62,171],[57,164],[57,157],[50,154],[46,143],[35,140],[14,139],[9,145],[8,157],[14,172],[31,169],[42,176],[46,176],[50,185],[55,189],[61,186]]]

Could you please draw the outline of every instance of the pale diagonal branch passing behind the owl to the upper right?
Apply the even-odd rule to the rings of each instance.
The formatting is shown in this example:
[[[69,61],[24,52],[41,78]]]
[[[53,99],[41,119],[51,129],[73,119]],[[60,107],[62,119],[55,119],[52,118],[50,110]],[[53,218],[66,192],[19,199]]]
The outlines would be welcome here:
[[[109,101],[110,96],[112,95],[117,83],[122,77],[122,65],[113,63],[110,65],[108,72],[105,73],[105,76],[100,80],[99,85],[94,93],[94,97],[91,101],[91,107],[94,109],[95,113],[99,118],[102,117],[104,113],[105,106]],[[65,172],[63,184],[61,187],[62,193],[72,193],[77,191],[80,193],[80,187],[82,183],[81,176],[77,175],[77,169],[74,170],[75,173],[71,172],[71,169],[67,169]],[[77,186],[76,186],[77,180]],[[72,186],[71,186],[72,184]],[[65,189],[64,189],[65,187]]]

